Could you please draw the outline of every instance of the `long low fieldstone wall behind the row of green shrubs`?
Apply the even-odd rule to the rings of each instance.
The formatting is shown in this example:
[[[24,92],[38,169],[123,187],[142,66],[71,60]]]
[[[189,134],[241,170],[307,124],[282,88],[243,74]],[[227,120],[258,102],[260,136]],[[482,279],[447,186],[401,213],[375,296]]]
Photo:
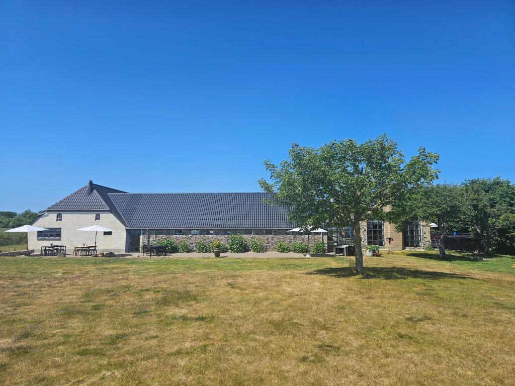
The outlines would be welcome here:
[[[148,234],[148,241],[150,244],[154,243],[156,240],[159,239],[171,239],[175,240],[177,244],[185,241],[190,249],[194,251],[196,249],[196,245],[198,242],[203,241],[207,244],[212,244],[213,241],[218,240],[220,242],[223,242],[227,245],[229,241],[229,236],[227,234],[222,234],[223,231],[216,231],[214,235],[206,235],[200,234],[200,235],[192,235],[191,230],[188,230],[188,232],[185,232],[186,230],[183,230],[183,235],[175,235],[175,231],[158,231],[157,234],[154,231],[149,231]],[[165,234],[168,233],[168,234]],[[174,234],[173,234],[174,233]],[[243,231],[241,232],[243,233]],[[280,234],[283,233],[283,234]],[[233,232],[233,234],[235,234]],[[284,231],[277,230],[275,234],[272,235],[264,235],[259,233],[253,233],[252,235],[243,235],[244,239],[247,242],[247,245],[250,247],[250,240],[252,238],[255,239],[262,239],[263,245],[265,246],[265,249],[267,251],[275,251],[277,243],[280,241],[285,242],[288,245],[291,245],[293,242],[303,242],[307,244],[307,235],[289,235],[286,234]],[[310,247],[313,247],[313,243],[315,241],[318,241],[321,239],[320,235],[310,235]],[[147,244],[147,235],[146,231],[142,232],[142,244]],[[324,242],[327,242],[327,237],[324,237]]]

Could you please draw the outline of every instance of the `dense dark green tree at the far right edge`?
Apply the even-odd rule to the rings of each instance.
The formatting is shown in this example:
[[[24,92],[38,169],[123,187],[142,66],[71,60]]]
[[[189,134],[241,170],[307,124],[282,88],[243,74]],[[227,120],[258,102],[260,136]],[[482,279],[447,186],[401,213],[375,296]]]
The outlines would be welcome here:
[[[507,221],[515,215],[515,185],[496,177],[467,180],[463,186],[471,207],[469,229],[479,240],[480,249],[490,253],[493,239],[497,251],[509,251],[505,247],[515,242],[509,237],[512,227]]]

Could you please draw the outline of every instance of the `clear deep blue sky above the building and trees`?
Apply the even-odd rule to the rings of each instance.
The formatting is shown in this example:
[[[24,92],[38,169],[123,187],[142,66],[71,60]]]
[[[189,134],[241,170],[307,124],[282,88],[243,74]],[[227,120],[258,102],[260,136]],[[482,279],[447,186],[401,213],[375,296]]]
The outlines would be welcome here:
[[[0,0],[0,210],[258,191],[291,142],[381,133],[515,181],[515,2]]]

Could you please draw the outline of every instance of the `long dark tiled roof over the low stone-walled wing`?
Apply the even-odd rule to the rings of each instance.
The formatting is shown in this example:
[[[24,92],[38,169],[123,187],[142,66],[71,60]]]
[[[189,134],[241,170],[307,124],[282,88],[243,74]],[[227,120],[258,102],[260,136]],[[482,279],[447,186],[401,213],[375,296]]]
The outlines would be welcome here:
[[[132,229],[290,229],[287,208],[268,193],[109,194]]]

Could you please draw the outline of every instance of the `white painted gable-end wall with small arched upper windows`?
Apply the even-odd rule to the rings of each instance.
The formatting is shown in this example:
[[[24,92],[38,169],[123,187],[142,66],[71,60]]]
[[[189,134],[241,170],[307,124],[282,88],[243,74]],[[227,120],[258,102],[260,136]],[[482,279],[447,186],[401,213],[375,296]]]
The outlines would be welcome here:
[[[56,221],[57,214],[62,214],[62,221]],[[95,214],[100,214],[100,220],[95,221]],[[98,252],[125,252],[125,226],[110,212],[47,212],[33,224],[43,228],[61,228],[61,239],[38,239],[37,232],[28,233],[29,249],[39,253],[42,245],[66,245],[66,253],[73,253],[75,245],[93,245],[95,232],[77,231],[91,225],[101,225],[112,229],[111,236],[97,233]]]

